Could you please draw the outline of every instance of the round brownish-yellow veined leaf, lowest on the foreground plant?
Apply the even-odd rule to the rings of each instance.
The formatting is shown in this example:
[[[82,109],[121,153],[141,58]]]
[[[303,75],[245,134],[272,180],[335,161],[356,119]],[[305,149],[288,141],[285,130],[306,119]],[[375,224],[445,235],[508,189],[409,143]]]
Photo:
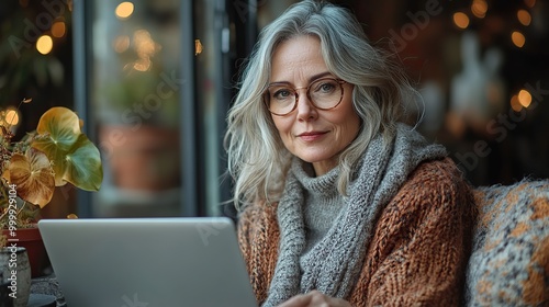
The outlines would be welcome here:
[[[30,148],[25,155],[13,154],[8,171],[10,183],[16,185],[20,198],[41,208],[52,201],[55,178],[49,159],[44,152]]]

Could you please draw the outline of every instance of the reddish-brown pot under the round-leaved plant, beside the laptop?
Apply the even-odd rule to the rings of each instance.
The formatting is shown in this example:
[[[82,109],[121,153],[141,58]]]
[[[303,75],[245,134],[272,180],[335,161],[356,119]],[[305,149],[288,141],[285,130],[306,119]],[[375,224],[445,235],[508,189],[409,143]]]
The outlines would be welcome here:
[[[47,258],[46,248],[44,247],[44,242],[42,241],[42,236],[40,235],[40,230],[37,227],[32,228],[18,228],[16,239],[19,241],[9,241],[7,247],[10,247],[11,243],[16,245],[18,247],[23,247],[26,249],[26,253],[29,257],[29,262],[31,263],[31,272],[32,277],[40,277],[44,275],[44,269],[49,264],[49,260]],[[9,236],[9,231],[3,229],[2,234],[7,236],[7,238],[12,238]]]

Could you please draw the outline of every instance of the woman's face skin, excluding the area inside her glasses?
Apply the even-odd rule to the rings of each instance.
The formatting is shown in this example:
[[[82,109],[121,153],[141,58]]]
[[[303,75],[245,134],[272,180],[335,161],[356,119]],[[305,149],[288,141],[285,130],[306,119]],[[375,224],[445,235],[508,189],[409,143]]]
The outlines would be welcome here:
[[[285,148],[314,167],[316,175],[337,164],[337,156],[357,136],[360,118],[352,107],[352,86],[344,83],[341,102],[332,110],[314,107],[306,88],[318,78],[332,77],[314,36],[298,36],[280,44],[272,57],[270,83],[298,88],[298,106],[290,114],[271,114]]]

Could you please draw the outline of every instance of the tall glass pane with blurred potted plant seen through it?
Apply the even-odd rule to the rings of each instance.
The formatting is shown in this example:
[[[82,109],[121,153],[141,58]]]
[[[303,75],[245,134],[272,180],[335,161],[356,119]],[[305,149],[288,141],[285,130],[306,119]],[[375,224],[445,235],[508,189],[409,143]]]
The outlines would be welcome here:
[[[105,170],[97,216],[179,214],[179,5],[93,1],[90,103]]]

